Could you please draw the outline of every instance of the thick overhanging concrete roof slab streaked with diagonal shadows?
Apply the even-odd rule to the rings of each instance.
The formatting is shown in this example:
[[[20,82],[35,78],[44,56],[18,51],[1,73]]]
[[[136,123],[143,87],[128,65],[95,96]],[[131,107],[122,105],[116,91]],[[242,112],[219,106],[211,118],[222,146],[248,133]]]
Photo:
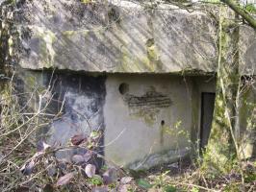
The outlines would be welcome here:
[[[110,2],[27,1],[20,16],[20,65],[91,72],[215,71],[217,29],[205,12]]]

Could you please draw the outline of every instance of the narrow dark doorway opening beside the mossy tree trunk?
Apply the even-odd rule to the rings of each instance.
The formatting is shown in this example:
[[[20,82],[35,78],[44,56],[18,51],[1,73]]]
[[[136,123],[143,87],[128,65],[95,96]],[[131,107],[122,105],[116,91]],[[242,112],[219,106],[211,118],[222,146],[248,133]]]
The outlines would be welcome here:
[[[201,94],[201,125],[200,125],[200,149],[205,149],[212,128],[215,108],[215,93],[203,92]]]

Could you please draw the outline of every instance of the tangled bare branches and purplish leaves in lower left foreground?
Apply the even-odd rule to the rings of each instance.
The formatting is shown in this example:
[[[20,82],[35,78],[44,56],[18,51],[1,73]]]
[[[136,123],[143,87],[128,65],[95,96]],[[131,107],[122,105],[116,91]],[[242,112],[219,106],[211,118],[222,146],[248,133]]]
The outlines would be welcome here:
[[[1,92],[1,191],[138,189],[123,169],[99,152],[102,131],[74,135],[65,146],[49,145],[39,139],[39,130],[59,119],[62,108],[57,113],[48,113],[54,97],[51,86],[21,93],[13,82],[6,84]],[[108,167],[102,166],[102,161]]]

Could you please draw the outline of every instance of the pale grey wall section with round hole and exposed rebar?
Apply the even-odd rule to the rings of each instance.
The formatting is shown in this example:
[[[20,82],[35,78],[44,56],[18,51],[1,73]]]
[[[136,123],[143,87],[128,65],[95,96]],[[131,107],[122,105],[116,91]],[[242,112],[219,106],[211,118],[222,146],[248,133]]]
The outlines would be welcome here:
[[[128,85],[121,93],[120,84]],[[147,169],[196,150],[201,93],[215,92],[215,78],[115,74],[108,75],[106,90],[105,156]]]

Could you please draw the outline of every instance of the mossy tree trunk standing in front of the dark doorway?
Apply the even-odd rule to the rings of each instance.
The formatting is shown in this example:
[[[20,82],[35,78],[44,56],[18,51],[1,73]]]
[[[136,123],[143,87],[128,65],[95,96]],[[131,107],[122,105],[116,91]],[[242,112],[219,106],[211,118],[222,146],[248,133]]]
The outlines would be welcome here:
[[[239,26],[237,15],[220,6],[218,34],[218,78],[215,112],[204,163],[215,171],[228,172],[237,155],[235,128],[237,121],[237,95],[239,75]]]

